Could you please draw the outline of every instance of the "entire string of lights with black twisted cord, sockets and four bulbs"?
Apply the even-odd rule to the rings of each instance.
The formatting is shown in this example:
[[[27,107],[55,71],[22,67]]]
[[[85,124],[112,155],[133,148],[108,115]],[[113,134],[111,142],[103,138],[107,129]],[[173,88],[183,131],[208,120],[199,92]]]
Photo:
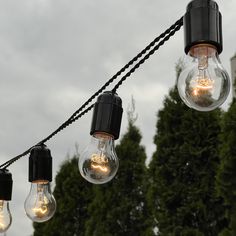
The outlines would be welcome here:
[[[205,30],[200,29],[199,31],[199,26],[204,25],[205,27],[206,23]],[[181,98],[188,106],[200,111],[212,110],[224,102],[229,93],[230,83],[227,72],[218,60],[218,54],[222,51],[221,14],[218,11],[218,5],[213,0],[193,0],[188,5],[184,17],[177,20],[122,67],[54,132],[23,153],[0,165],[0,233],[5,232],[12,222],[8,205],[8,201],[11,200],[12,177],[7,168],[30,153],[29,181],[31,182],[31,190],[25,201],[26,214],[35,222],[49,220],[55,213],[56,201],[50,190],[52,157],[45,143],[92,108],[94,108],[94,115],[90,134],[92,135],[92,143],[96,143],[96,151],[91,152],[92,149],[88,149],[89,151],[85,152],[84,157],[81,156],[79,169],[82,176],[92,183],[106,183],[114,177],[119,165],[114,151],[114,140],[119,137],[122,117],[121,99],[116,95],[116,91],[127,78],[179,31],[183,24],[185,26],[185,52],[197,64],[198,73],[195,76],[196,73],[189,71],[189,68],[187,72],[186,70],[182,72],[178,80]],[[215,67],[211,67],[212,61],[215,63]],[[129,69],[130,67],[131,69]],[[209,68],[215,70],[218,75],[216,79],[211,76]],[[102,94],[124,72],[126,73],[115,84],[112,91]],[[191,80],[189,80],[190,77]],[[217,89],[215,89],[216,86]],[[218,89],[219,87],[220,89]],[[97,102],[89,105],[97,96],[99,96]],[[207,103],[205,102],[206,98],[210,98]],[[108,103],[104,102],[107,99],[110,99],[109,108]],[[109,117],[112,118],[111,123],[108,122]]]

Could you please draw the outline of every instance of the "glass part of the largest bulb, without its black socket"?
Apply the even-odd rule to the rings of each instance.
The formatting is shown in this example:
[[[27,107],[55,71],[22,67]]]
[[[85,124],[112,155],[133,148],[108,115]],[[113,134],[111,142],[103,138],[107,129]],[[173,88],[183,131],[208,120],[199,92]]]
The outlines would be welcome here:
[[[230,78],[215,47],[200,44],[190,49],[177,87],[185,104],[198,111],[211,111],[225,102]]]

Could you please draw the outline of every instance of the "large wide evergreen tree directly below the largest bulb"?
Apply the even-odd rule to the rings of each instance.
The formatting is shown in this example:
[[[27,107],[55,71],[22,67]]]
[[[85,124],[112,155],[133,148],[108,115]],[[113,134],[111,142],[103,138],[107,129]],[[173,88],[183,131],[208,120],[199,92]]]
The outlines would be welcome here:
[[[222,199],[215,193],[219,120],[219,110],[187,108],[176,87],[165,98],[147,195],[157,235],[216,236],[225,226]]]

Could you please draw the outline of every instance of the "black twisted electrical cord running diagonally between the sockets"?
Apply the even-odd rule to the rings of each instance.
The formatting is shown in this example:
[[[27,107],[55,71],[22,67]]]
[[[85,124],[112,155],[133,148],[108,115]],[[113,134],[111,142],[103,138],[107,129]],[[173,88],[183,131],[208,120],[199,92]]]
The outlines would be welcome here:
[[[95,92],[77,111],[75,111],[69,119],[67,119],[62,125],[60,125],[55,131],[53,131],[50,135],[48,135],[46,138],[38,142],[36,145],[44,144],[47,141],[49,141],[52,137],[54,137],[57,133],[65,129],[67,126],[78,120],[80,117],[85,115],[88,111],[90,111],[94,104],[89,105],[89,103],[92,102],[93,99],[95,99],[99,94],[102,93],[108,87],[115,79],[117,79],[123,72],[125,72],[130,66],[132,66],[138,59],[140,59],[114,86],[112,89],[113,92],[116,92],[116,90],[121,86],[121,84],[128,78],[132,73],[136,71],[142,65],[151,55],[153,55],[160,46],[164,45],[165,42],[167,42],[170,37],[172,37],[183,25],[183,17],[181,17],[179,20],[177,20],[172,26],[170,26],[165,32],[160,34],[157,38],[155,38],[151,43],[149,43],[140,53],[138,53],[132,60],[130,60],[124,67],[122,67],[113,77],[111,77],[97,92]],[[161,40],[162,39],[162,40]],[[161,40],[161,41],[160,41]],[[160,41],[160,42],[159,42]],[[159,43],[158,43],[159,42]],[[158,43],[158,44],[157,44]],[[157,44],[157,45],[156,45]],[[156,46],[155,46],[156,45]],[[148,53],[147,53],[148,52]],[[146,54],[146,55],[145,55]],[[85,110],[84,110],[85,109]],[[84,110],[84,111],[83,111]],[[21,157],[26,156],[30,153],[31,149],[36,146],[33,145],[26,151],[24,151],[22,154],[17,155],[10,159],[9,161],[3,163],[0,165],[0,169],[6,169],[11,164],[13,164],[15,161],[19,160]]]

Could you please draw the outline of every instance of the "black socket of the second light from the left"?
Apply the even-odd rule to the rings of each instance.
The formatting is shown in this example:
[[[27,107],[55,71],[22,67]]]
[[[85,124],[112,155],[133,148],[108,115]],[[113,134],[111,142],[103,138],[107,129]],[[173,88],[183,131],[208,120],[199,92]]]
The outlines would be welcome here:
[[[46,145],[32,148],[29,156],[29,182],[52,181],[52,156]]]

